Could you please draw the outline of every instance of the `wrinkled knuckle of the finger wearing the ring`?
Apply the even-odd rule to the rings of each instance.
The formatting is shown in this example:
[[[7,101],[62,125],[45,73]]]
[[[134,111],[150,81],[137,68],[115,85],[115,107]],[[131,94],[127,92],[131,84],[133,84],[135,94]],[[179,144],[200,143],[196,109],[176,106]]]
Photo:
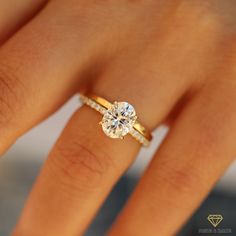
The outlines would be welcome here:
[[[91,150],[86,144],[73,140],[58,145],[52,156],[51,168],[64,184],[94,189],[110,167],[111,158],[102,150]]]

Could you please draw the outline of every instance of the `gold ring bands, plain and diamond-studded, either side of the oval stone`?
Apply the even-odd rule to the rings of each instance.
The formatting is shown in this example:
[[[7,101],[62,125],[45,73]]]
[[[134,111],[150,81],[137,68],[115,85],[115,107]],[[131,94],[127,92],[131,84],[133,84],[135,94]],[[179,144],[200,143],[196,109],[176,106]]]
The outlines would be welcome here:
[[[80,99],[86,105],[92,107],[97,110],[101,114],[104,115],[105,111],[112,106],[112,103],[107,101],[106,99],[99,97],[94,94],[88,94],[86,96],[80,95]],[[133,130],[129,132],[137,141],[142,143],[145,146],[148,146],[150,141],[152,140],[151,133],[137,120],[133,125]]]

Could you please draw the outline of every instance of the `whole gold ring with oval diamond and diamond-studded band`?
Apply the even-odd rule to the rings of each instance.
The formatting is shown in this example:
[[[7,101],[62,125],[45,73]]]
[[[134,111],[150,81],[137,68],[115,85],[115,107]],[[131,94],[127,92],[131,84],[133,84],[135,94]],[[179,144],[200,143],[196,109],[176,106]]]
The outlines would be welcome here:
[[[111,103],[93,94],[80,95],[80,100],[103,115],[100,124],[108,137],[123,139],[130,134],[144,146],[149,145],[152,135],[138,122],[136,111],[128,102]]]

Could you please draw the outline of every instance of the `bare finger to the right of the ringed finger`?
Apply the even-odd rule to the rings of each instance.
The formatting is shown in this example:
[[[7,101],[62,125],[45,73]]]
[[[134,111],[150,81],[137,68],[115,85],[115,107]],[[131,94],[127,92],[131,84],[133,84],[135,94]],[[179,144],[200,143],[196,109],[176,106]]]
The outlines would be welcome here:
[[[235,158],[235,91],[214,81],[187,105],[110,235],[175,235]]]

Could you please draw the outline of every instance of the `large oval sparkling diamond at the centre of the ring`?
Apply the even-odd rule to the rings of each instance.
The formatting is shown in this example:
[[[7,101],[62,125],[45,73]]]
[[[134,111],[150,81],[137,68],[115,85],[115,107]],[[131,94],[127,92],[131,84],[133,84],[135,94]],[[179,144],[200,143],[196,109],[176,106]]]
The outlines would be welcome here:
[[[134,107],[127,102],[114,102],[102,118],[102,129],[111,138],[123,138],[137,119]]]

